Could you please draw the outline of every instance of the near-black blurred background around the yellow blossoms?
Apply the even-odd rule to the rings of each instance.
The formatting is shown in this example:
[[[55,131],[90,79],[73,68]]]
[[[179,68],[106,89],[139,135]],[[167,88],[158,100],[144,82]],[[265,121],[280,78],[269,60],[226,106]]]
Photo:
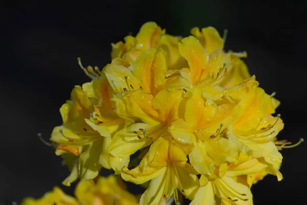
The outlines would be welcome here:
[[[267,93],[277,92],[284,120],[279,139],[296,142],[306,125],[306,23],[303,1],[15,2],[2,5],[0,204],[40,197],[69,174],[60,157],[37,138],[61,124],[59,108],[74,85],[90,81],[77,64],[102,68],[111,43],[149,20],[167,33],[192,27],[229,30],[226,50],[245,59]],[[267,176],[252,188],[254,204],[298,204],[306,197],[306,146],[283,150],[284,179]],[[72,188],[65,188],[72,193]]]

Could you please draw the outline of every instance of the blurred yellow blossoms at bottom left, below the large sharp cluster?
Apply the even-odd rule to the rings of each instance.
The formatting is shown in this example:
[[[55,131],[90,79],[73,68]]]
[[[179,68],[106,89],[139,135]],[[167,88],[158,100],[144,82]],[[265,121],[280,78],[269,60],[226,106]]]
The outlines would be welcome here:
[[[75,196],[64,194],[58,187],[40,199],[26,198],[21,205],[136,205],[137,199],[123,190],[114,176],[99,177],[97,182],[84,180],[78,183]]]

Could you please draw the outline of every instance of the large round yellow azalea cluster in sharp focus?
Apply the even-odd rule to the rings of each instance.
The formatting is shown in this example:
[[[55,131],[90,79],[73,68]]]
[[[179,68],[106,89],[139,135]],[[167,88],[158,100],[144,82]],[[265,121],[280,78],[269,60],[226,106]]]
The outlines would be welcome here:
[[[64,185],[94,179],[103,167],[138,185],[150,181],[139,204],[171,196],[180,204],[181,194],[192,205],[252,204],[253,183],[282,179],[278,150],[289,142],[276,141],[279,101],[250,76],[245,52],[223,50],[226,36],[212,27],[191,33],[168,35],[148,22],[112,45],[102,71],[79,59],[93,80],[73,89],[51,135],[71,169]]]

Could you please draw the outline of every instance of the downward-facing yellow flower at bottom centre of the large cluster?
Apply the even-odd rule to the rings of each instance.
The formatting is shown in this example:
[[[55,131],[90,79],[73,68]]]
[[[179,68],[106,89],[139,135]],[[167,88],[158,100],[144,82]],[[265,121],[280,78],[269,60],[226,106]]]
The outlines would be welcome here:
[[[151,180],[140,204],[165,204],[172,194],[178,202],[178,190],[193,199],[199,180],[195,170],[187,163],[186,155],[190,150],[190,146],[183,147],[169,135],[160,137],[150,146],[140,165],[131,170],[124,167],[121,176],[136,184]]]

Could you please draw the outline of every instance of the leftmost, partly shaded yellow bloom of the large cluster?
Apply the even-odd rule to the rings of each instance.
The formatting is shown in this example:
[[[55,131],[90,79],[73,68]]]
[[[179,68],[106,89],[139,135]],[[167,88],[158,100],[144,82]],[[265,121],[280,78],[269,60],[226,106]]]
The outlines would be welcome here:
[[[99,79],[83,84],[82,88],[76,86],[72,99],[60,108],[63,125],[55,127],[51,135],[51,140],[57,144],[57,155],[72,153],[78,156],[77,159],[70,158],[75,161],[65,162],[74,164],[71,175],[63,181],[66,186],[78,177],[82,180],[95,178],[101,167],[110,169],[108,147],[111,135],[133,122],[113,112],[109,99],[112,88],[103,74]],[[118,157],[117,160],[128,159]]]

